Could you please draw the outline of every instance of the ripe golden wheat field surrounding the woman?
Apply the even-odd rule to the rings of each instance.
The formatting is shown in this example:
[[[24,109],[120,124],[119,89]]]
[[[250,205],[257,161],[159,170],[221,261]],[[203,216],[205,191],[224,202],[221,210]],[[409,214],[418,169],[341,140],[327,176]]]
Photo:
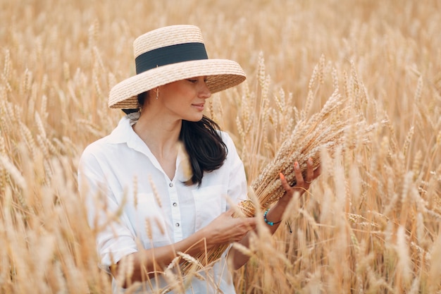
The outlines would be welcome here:
[[[123,115],[107,95],[135,73],[135,37],[182,23],[247,73],[207,115],[250,183],[330,97],[352,122],[278,232],[240,248],[251,258],[237,293],[441,293],[440,11],[440,0],[0,0],[0,293],[111,293],[77,161]]]

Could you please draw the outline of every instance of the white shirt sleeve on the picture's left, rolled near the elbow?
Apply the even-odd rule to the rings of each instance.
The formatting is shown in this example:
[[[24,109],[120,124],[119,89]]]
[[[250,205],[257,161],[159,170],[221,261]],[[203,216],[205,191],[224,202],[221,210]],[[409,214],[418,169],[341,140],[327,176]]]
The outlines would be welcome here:
[[[80,158],[78,188],[87,208],[89,226],[97,232],[99,266],[108,272],[125,255],[137,252],[135,233],[128,218],[106,183],[102,164],[88,147]],[[117,221],[118,219],[118,221]]]

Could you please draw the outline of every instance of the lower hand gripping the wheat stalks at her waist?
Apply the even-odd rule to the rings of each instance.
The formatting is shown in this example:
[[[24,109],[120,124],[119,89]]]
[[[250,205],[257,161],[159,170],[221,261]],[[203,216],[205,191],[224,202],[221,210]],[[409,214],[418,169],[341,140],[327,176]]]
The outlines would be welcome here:
[[[234,209],[223,212],[223,214],[213,219],[208,226],[203,228],[207,247],[239,242],[249,231],[256,228],[256,218],[235,218],[233,217],[234,212]]]

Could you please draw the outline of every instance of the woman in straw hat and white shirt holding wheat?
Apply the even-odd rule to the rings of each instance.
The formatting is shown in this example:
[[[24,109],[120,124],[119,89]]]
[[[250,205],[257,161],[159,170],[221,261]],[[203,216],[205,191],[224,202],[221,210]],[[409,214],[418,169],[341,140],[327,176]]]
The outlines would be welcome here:
[[[89,223],[99,232],[101,267],[113,274],[114,293],[135,281],[142,281],[143,293],[167,288],[170,281],[158,273],[178,252],[194,256],[218,245],[248,245],[248,233],[256,228],[255,218],[232,218],[230,203],[247,197],[244,166],[228,134],[203,115],[213,92],[245,80],[242,68],[208,59],[201,32],[192,25],[148,32],[134,48],[137,75],[113,87],[108,101],[127,116],[85,149],[78,171]],[[266,213],[271,232],[294,190],[308,189],[318,176],[311,163],[305,179],[294,166],[297,185],[282,178],[286,195]],[[181,283],[185,293],[235,293],[227,253],[235,269],[247,262],[232,247],[204,273],[204,281]]]

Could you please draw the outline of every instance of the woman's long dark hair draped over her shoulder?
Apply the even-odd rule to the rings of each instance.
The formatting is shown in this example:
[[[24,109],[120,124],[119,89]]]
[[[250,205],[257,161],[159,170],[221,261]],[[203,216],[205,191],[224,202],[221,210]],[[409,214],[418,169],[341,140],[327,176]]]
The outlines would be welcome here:
[[[147,102],[148,95],[149,92],[138,95],[139,106]],[[192,167],[192,178],[185,185],[200,186],[204,172],[215,171],[223,165],[228,148],[222,140],[220,130],[219,125],[206,116],[200,121],[182,120],[179,140],[185,147]]]

